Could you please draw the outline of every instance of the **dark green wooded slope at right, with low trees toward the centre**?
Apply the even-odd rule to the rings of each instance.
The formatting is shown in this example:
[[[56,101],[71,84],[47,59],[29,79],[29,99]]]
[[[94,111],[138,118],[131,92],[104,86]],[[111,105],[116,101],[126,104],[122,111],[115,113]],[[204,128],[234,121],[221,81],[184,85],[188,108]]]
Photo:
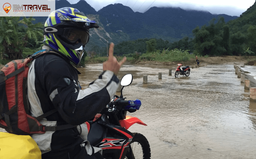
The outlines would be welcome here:
[[[192,30],[193,38],[185,37],[171,43],[156,39],[155,49],[181,49],[196,55],[255,55],[256,52],[256,2],[237,19],[225,22],[219,16],[213,18],[208,25],[197,26]],[[131,52],[145,53],[146,42],[150,39],[140,39],[117,44],[115,52],[122,55]],[[139,49],[137,47],[141,46]],[[125,48],[125,49],[124,49]]]

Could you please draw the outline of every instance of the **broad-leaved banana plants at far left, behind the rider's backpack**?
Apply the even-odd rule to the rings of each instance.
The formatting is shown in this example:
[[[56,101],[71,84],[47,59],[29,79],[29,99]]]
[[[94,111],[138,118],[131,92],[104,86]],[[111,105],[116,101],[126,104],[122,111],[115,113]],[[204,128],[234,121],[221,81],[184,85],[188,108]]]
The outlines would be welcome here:
[[[28,39],[39,43],[43,37],[42,23],[33,24],[32,17],[0,17],[0,52],[1,58],[8,60],[24,58],[23,49],[27,46]],[[20,29],[22,28],[22,29]]]

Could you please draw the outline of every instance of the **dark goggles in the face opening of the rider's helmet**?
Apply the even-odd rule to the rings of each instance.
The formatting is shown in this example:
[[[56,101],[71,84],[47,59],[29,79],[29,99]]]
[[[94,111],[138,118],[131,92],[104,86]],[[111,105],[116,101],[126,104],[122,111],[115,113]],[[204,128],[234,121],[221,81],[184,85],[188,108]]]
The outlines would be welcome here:
[[[69,44],[81,42],[82,45],[85,45],[89,41],[89,33],[86,30],[77,28],[64,28],[62,37],[65,38]]]

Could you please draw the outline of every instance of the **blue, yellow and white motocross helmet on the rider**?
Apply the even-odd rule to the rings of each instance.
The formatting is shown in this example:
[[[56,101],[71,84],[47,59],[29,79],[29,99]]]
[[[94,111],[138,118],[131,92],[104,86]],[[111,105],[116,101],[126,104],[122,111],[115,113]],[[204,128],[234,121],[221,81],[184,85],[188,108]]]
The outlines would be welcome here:
[[[89,29],[99,28],[83,12],[71,7],[53,11],[44,26],[43,43],[78,64],[89,41]]]

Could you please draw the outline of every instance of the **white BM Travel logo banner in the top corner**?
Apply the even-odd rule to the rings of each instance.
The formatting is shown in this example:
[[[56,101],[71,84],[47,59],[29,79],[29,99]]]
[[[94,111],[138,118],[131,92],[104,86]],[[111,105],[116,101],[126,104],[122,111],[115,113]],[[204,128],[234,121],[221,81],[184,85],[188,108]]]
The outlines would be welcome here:
[[[0,13],[0,16],[20,16],[20,13],[24,16],[48,16],[55,10],[55,0],[8,0],[3,9],[4,12]]]

